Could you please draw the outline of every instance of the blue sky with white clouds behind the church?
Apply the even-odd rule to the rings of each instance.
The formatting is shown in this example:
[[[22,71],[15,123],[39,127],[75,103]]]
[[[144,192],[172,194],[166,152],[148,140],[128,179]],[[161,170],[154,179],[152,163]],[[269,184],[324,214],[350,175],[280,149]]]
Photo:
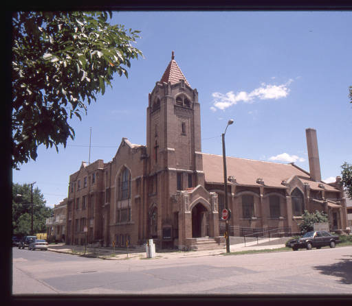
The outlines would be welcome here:
[[[352,12],[114,12],[111,23],[140,30],[129,78],[115,76],[83,120],[71,121],[67,148],[39,148],[13,171],[14,183],[41,189],[53,207],[67,196],[69,175],[89,159],[111,161],[122,137],[146,143],[148,93],[171,51],[199,92],[202,151],[276,161],[309,171],[305,129],[315,128],[322,179],[352,163]],[[234,175],[235,174],[228,174]]]

